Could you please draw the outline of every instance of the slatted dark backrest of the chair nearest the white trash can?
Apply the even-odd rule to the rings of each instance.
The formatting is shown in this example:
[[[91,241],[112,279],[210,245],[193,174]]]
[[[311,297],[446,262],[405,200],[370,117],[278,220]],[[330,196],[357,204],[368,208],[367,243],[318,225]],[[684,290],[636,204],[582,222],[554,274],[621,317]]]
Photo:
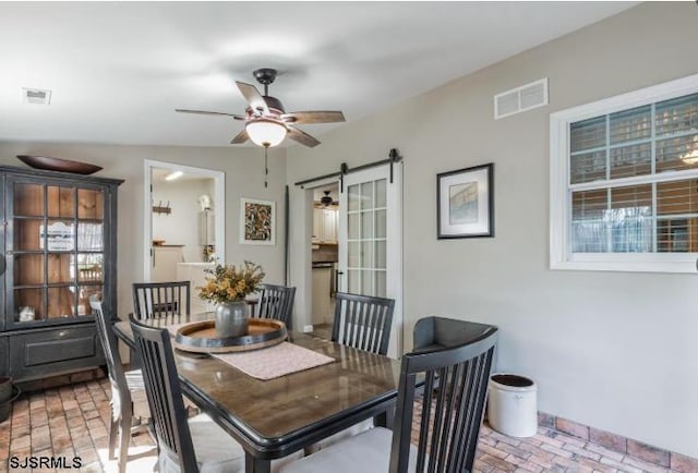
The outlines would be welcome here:
[[[497,328],[489,326],[461,344],[402,355],[390,473],[408,471],[413,417],[419,422],[414,471],[472,471],[496,340]],[[416,383],[422,374],[424,397],[414,412]]]

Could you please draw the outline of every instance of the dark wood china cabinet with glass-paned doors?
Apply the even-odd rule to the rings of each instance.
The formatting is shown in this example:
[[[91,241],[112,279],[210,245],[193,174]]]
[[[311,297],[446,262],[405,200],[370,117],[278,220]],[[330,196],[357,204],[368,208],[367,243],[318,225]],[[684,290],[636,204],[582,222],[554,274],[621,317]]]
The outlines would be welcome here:
[[[89,298],[116,314],[122,182],[0,167],[0,375],[22,381],[105,363]]]

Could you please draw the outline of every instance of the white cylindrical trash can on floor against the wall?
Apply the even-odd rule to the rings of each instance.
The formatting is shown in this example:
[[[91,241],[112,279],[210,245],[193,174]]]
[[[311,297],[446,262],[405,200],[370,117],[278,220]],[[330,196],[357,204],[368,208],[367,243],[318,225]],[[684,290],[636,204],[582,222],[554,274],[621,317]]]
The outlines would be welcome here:
[[[512,437],[532,437],[538,432],[537,386],[532,379],[506,373],[490,377],[488,421],[495,430]]]

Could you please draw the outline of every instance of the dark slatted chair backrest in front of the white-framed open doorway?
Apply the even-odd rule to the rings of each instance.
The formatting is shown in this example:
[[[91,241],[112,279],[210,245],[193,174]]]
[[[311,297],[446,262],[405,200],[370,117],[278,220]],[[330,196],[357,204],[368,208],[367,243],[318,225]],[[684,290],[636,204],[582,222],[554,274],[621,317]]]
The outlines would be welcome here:
[[[192,308],[189,281],[135,282],[133,314],[139,320],[189,314]]]

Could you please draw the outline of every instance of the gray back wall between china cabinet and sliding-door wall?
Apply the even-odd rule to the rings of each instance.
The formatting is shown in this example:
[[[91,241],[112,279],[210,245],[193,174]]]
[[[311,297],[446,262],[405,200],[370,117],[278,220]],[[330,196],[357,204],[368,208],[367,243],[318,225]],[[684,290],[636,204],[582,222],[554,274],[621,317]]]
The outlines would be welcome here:
[[[132,311],[131,283],[143,280],[143,185],[145,159],[226,173],[226,259],[258,263],[268,282],[284,281],[284,186],[286,151],[269,153],[269,186],[264,187],[264,154],[258,148],[195,148],[165,146],[109,146],[86,144],[0,143],[0,165],[25,166],[16,155],[52,156],[91,162],[104,170],[95,175],[123,179],[119,187],[118,294],[119,313]],[[214,197],[214,196],[212,196]],[[275,201],[276,245],[239,244],[240,197]],[[216,203],[218,205],[218,203]],[[192,221],[192,225],[195,225]]]

